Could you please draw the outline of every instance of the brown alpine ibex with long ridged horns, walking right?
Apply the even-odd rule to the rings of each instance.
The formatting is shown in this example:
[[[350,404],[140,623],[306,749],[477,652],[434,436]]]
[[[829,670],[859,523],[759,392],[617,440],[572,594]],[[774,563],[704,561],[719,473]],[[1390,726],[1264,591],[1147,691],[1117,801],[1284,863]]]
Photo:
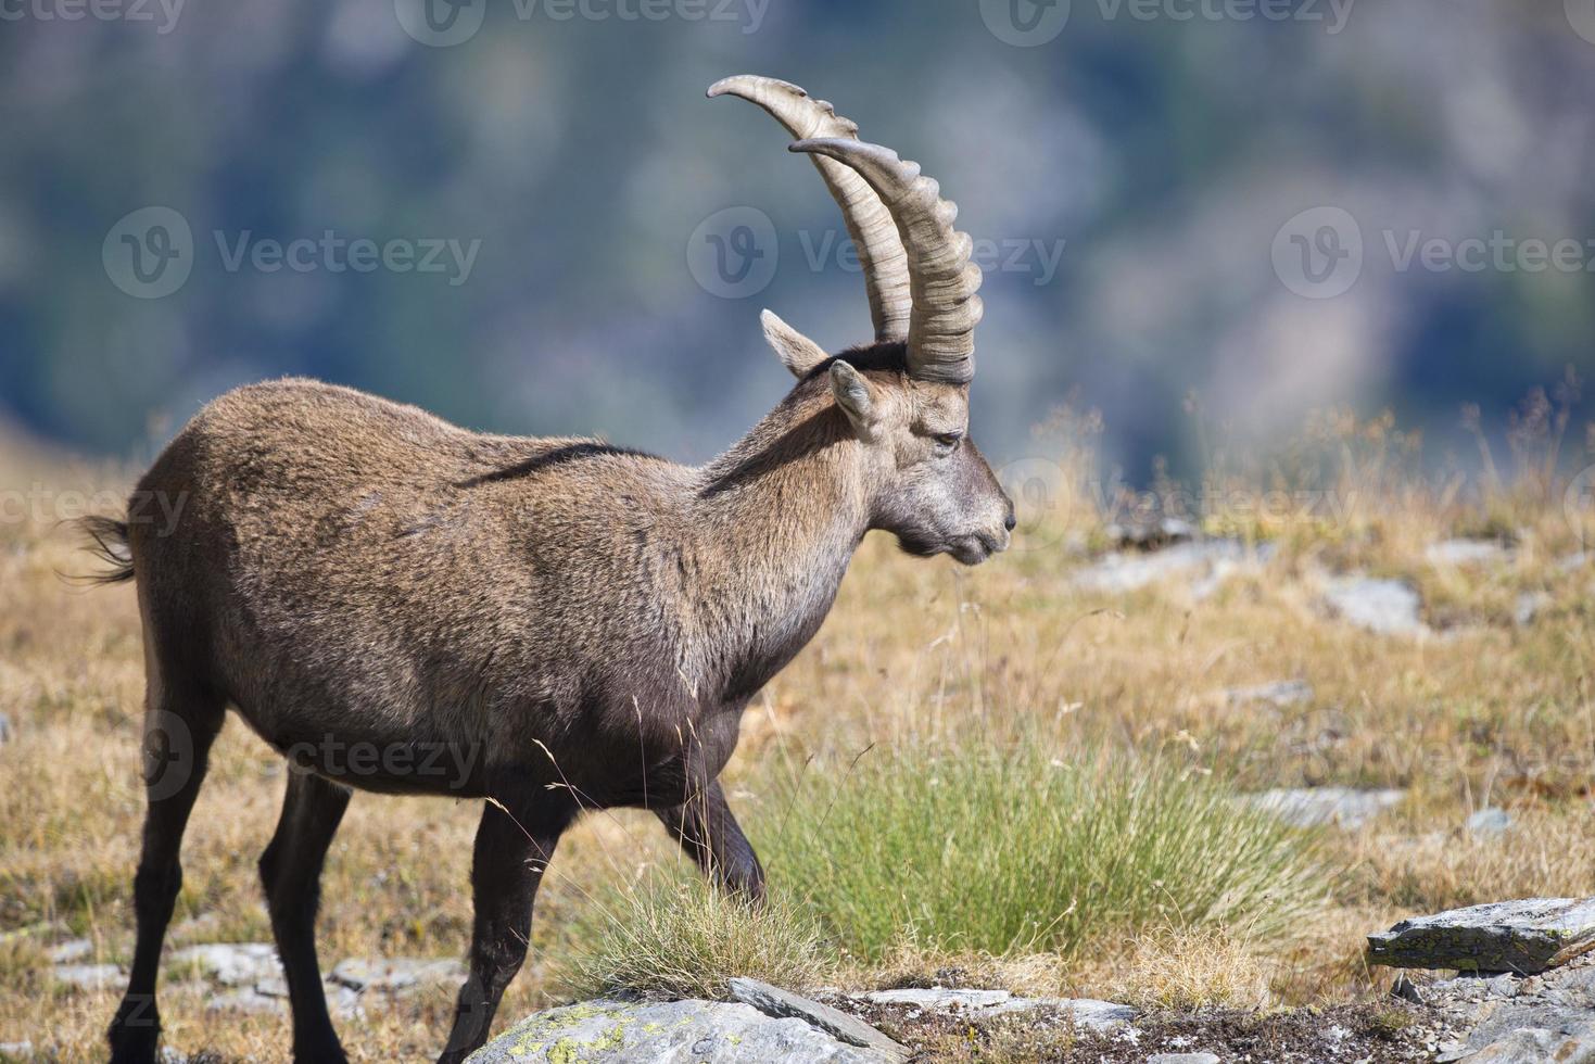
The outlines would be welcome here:
[[[762,897],[716,780],[743,707],[813,636],[866,531],[965,565],[1008,546],[1013,502],[967,431],[981,273],[955,207],[798,86],[743,75],[721,94],[759,104],[813,158],[876,325],[833,357],[766,313],[798,384],[727,453],[684,467],[597,440],[477,435],[284,380],[207,405],[144,475],[134,499],[182,499],[175,528],[89,522],[116,566],[104,579],[137,581],[147,668],[115,1061],[156,1054],[179,845],[228,707],[297,769],[260,858],[297,1059],[345,1059],[314,920],[351,788],[491,799],[471,975],[440,1056],[461,1061],[486,1038],[581,810],[646,807],[705,873]],[[357,748],[405,756],[338,755]],[[424,770],[426,750],[453,751],[450,770]]]

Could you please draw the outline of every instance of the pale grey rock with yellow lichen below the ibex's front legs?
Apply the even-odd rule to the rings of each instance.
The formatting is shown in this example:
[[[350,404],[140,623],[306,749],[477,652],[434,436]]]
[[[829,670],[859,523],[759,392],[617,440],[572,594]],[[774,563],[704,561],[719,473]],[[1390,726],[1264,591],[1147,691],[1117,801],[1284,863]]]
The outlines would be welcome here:
[[[469,1064],[880,1064],[802,1019],[742,1002],[597,1000],[536,1013],[471,1054]]]

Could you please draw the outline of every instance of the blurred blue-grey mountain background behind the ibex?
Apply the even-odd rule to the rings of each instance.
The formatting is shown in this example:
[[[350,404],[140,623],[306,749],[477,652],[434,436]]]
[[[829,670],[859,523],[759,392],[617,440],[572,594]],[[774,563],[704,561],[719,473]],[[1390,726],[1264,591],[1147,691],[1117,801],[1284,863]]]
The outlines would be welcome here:
[[[959,203],[994,458],[1072,400],[1131,480],[1190,472],[1191,391],[1461,451],[1464,402],[1595,368],[1592,41],[1595,0],[8,0],[0,420],[139,458],[295,373],[705,459],[786,388],[762,306],[869,337],[812,166],[703,99],[754,72]]]

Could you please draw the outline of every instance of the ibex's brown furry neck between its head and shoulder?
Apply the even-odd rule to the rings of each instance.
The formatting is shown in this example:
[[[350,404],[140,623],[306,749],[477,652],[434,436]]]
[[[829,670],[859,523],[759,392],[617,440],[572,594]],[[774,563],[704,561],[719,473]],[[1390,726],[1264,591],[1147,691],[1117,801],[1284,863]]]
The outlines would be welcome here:
[[[738,700],[831,609],[869,525],[864,451],[834,407],[793,397],[699,475],[687,656],[705,694]]]

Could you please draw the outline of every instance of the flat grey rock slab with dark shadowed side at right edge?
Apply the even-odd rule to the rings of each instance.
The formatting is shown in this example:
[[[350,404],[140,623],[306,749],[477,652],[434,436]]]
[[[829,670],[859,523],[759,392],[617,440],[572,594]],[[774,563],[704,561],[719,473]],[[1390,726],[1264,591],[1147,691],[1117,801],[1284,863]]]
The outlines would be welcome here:
[[[1369,959],[1397,968],[1534,973],[1595,946],[1595,898],[1528,898],[1451,909],[1369,935]]]

